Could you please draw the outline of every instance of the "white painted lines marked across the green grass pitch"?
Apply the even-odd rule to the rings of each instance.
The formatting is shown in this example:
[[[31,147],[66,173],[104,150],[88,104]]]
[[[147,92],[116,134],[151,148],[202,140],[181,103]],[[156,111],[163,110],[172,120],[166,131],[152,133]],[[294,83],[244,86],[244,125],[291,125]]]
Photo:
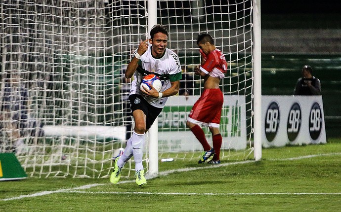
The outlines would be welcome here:
[[[315,155],[306,155],[306,156],[300,156],[300,157],[294,157],[294,158],[283,158],[283,159],[270,159],[269,161],[284,161],[284,160],[300,160],[305,158],[312,158],[312,157],[320,157],[320,156],[331,156],[331,155],[341,155],[341,152],[337,153],[328,153],[328,154],[315,154]],[[177,169],[177,170],[168,170],[164,172],[160,172],[158,176],[167,176],[169,174],[175,173],[175,172],[188,172],[188,171],[194,171],[194,170],[201,170],[201,169],[214,169],[216,167],[224,167],[224,166],[231,166],[236,164],[246,164],[246,163],[254,163],[255,161],[248,160],[248,161],[240,161],[240,162],[233,162],[233,163],[223,163],[213,166],[205,166],[205,167],[193,167],[193,168],[185,168],[185,169]],[[148,177],[147,179],[152,179],[155,177]],[[120,181],[118,184],[122,183],[130,183],[134,180],[126,180],[126,181]],[[89,193],[89,194],[146,194],[146,195],[207,195],[207,196],[215,196],[215,195],[341,195],[341,193],[159,193],[159,192],[91,192],[91,191],[79,191],[83,189],[89,189],[92,187],[102,186],[102,185],[111,185],[111,183],[94,183],[94,184],[88,184],[83,185],[75,188],[66,188],[66,189],[59,189],[54,191],[41,191],[33,194],[28,195],[20,195],[17,197],[10,197],[5,199],[0,199],[0,201],[10,201],[10,200],[20,200],[23,198],[31,198],[31,197],[38,197],[38,196],[44,196],[48,194],[54,194],[54,193]]]

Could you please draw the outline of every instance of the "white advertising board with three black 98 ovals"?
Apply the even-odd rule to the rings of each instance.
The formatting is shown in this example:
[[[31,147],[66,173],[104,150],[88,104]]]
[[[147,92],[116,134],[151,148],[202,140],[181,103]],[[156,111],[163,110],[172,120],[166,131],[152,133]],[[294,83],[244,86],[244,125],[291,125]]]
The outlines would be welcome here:
[[[262,146],[326,143],[322,96],[262,96]]]

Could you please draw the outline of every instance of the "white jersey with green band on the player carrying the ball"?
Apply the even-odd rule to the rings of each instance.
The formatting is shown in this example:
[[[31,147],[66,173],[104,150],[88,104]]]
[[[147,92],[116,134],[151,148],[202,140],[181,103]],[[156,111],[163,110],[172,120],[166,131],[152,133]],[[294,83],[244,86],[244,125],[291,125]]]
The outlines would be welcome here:
[[[161,58],[155,58],[151,54],[152,46],[149,45],[148,50],[141,55],[138,61],[138,67],[134,73],[134,81],[131,83],[131,94],[142,94],[140,84],[142,77],[153,73],[160,77],[162,82],[161,91],[165,91],[171,87],[171,82],[181,79],[181,67],[178,56],[170,49],[166,48],[165,54]],[[135,50],[133,57],[137,50]],[[165,106],[168,97],[156,99],[142,95],[142,97],[152,106],[162,108]]]

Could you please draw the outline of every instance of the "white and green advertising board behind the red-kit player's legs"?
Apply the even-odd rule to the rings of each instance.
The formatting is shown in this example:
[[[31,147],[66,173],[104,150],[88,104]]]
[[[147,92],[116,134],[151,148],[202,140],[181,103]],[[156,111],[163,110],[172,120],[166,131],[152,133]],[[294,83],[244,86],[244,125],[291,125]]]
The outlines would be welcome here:
[[[158,140],[160,151],[200,150],[201,144],[186,127],[188,114],[200,96],[170,97],[158,117]],[[211,142],[208,127],[203,128]],[[223,136],[222,148],[244,149],[247,144],[245,97],[224,96],[221,110],[220,133]]]

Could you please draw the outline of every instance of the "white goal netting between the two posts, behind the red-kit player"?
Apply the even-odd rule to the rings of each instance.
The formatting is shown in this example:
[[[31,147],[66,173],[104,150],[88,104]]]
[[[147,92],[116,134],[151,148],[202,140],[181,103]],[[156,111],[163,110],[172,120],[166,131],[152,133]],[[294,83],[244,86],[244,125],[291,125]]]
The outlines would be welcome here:
[[[180,85],[179,97],[171,98],[159,117],[159,157],[198,159],[200,154],[197,151],[202,151],[199,141],[186,129],[186,117],[203,88],[202,78],[193,73],[193,67],[200,64],[196,39],[202,33],[213,36],[215,46],[225,54],[229,66],[220,86],[225,96],[220,127],[224,137],[221,156],[241,159],[250,153],[253,85],[251,21],[250,0],[158,1],[158,23],[169,26],[171,41],[168,47],[178,53],[183,65],[183,79],[186,79]],[[209,129],[204,128],[204,131],[212,145]]]

